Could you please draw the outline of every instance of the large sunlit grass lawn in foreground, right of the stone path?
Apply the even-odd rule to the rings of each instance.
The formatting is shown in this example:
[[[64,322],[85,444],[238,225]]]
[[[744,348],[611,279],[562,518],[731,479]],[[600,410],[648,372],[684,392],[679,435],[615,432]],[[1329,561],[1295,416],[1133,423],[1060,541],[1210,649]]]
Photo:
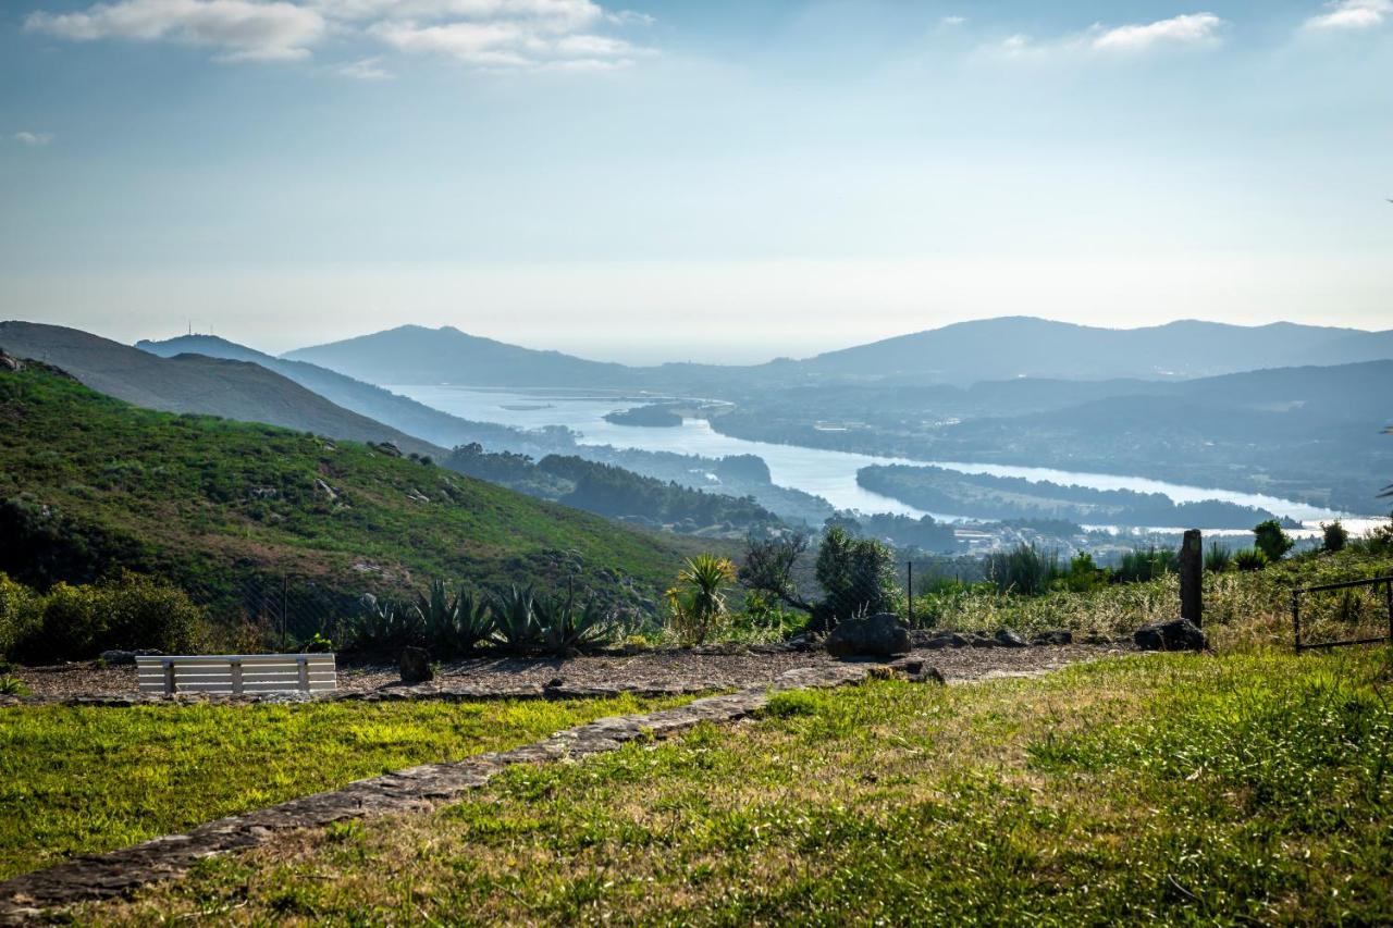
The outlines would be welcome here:
[[[78,915],[1389,924],[1389,660],[1149,655],[793,693],[754,725],[515,768]]]

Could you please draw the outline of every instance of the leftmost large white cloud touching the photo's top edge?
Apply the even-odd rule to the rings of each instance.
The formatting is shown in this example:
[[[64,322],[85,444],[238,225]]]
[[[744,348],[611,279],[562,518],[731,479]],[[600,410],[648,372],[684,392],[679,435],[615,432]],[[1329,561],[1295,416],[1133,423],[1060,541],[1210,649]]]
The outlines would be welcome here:
[[[25,28],[72,42],[171,40],[208,45],[226,61],[302,59],[325,32],[323,17],[294,3],[255,0],[120,0],[81,13],[32,13]]]

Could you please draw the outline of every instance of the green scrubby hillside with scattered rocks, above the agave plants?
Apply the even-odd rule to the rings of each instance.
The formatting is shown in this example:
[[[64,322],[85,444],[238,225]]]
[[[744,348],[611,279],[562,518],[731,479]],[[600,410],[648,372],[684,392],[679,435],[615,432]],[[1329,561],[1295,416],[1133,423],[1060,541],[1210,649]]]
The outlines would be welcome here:
[[[641,605],[690,553],[368,444],[135,408],[46,365],[0,365],[0,570],[40,585],[114,566],[343,596],[575,577]]]

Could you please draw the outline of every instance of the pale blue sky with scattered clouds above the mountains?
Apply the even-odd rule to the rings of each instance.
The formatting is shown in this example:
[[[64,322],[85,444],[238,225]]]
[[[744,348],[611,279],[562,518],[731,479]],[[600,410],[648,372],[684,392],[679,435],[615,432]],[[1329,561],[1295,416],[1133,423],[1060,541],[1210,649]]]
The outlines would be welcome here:
[[[6,0],[0,316],[749,362],[1393,327],[1393,0]]]

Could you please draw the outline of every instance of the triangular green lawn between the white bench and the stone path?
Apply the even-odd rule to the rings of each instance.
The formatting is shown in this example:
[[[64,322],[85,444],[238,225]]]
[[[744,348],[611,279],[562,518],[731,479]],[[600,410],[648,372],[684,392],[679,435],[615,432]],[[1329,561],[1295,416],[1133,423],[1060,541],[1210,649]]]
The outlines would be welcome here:
[[[0,709],[0,879],[681,699]]]

